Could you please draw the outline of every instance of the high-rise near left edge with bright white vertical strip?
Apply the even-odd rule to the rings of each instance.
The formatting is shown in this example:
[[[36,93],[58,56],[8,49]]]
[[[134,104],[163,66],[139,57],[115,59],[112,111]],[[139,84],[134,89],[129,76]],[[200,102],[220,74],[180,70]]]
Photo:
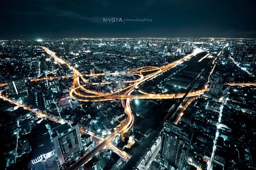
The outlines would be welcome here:
[[[26,82],[23,78],[8,79],[6,82],[12,95],[18,95],[27,89]]]

